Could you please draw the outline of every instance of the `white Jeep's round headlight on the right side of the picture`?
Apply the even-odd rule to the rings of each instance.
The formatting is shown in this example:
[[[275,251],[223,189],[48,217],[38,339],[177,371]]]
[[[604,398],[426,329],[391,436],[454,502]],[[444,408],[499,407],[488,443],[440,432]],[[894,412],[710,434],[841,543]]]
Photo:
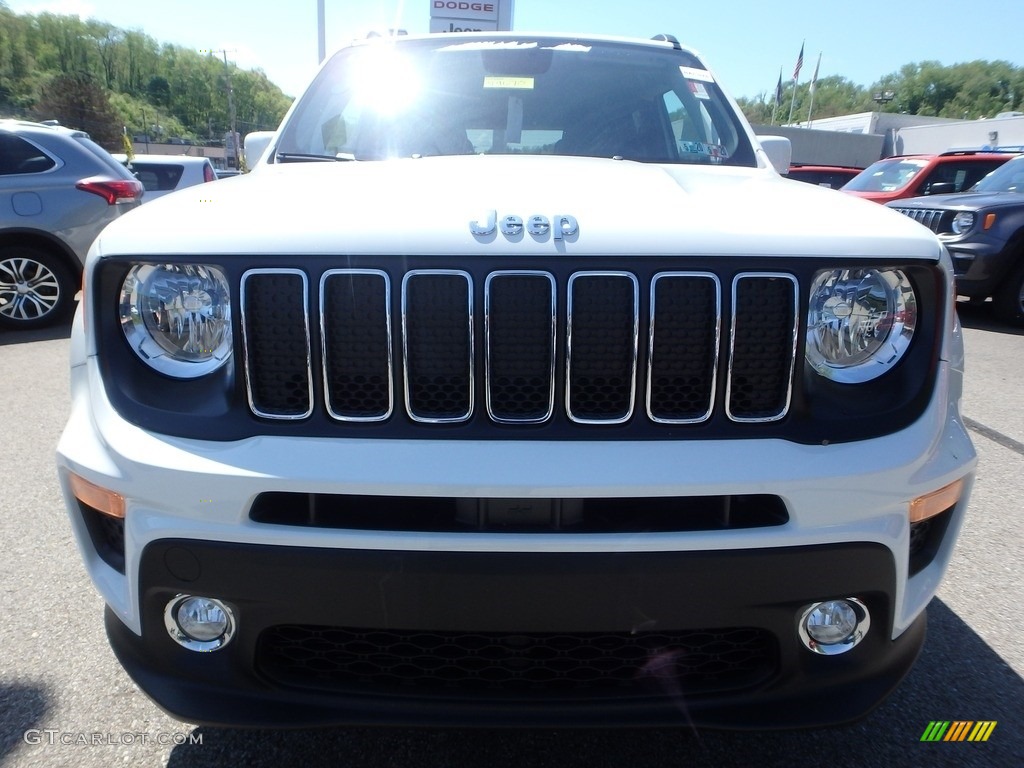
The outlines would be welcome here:
[[[899,269],[833,269],[811,286],[807,361],[843,384],[870,381],[906,353],[918,299]]]

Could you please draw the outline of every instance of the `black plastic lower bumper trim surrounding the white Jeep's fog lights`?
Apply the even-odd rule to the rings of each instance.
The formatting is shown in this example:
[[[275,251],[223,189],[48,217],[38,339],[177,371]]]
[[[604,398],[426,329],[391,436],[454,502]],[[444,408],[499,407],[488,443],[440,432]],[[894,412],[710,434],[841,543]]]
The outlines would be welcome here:
[[[231,726],[698,725],[820,726],[872,709],[909,670],[924,618],[890,639],[895,564],[877,544],[648,553],[399,552],[158,541],[142,553],[142,635],[110,610],[121,664],[154,700],[193,723]],[[175,595],[224,600],[238,632],[196,653],[167,633]],[[819,656],[797,640],[798,612],[856,596],[871,612],[849,653]],[[752,627],[778,644],[777,674],[753,689],[685,695],[668,688],[581,695],[428,693],[353,686],[309,690],[256,670],[261,633],[310,624],[473,632],[612,632]]]

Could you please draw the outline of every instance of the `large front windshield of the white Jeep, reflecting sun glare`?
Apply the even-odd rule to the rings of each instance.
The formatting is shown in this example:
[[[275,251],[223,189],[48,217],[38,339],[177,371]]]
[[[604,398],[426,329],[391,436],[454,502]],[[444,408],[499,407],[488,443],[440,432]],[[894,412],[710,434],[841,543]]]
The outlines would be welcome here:
[[[756,164],[689,53],[442,36],[336,54],[296,104],[275,162],[514,154]]]

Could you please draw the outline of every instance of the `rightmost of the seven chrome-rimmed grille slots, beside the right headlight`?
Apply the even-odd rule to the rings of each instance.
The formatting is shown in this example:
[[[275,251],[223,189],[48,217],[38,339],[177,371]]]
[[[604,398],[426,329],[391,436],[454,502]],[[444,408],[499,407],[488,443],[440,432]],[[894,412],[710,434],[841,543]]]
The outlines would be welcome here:
[[[743,273],[732,283],[726,412],[733,421],[778,421],[790,410],[797,291],[791,274]]]

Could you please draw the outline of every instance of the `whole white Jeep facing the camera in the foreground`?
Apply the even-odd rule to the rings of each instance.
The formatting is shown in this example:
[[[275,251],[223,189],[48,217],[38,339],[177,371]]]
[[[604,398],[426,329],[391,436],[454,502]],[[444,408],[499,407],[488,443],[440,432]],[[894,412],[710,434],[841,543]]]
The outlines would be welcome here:
[[[893,690],[976,463],[932,232],[782,178],[665,35],[359,41],[257,138],[103,231],[73,331],[69,519],[165,711],[752,729]]]

